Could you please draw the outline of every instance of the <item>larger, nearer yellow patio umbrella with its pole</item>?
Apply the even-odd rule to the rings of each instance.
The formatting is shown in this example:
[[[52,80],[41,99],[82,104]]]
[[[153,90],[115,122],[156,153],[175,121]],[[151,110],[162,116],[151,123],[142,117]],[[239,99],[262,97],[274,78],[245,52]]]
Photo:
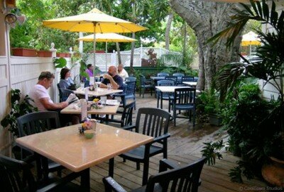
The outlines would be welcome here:
[[[88,13],[82,13],[77,16],[46,20],[43,21],[43,26],[73,32],[94,33],[94,54],[96,50],[96,33],[135,33],[147,29],[130,21],[109,16],[99,11],[99,9],[92,9]],[[94,65],[95,60],[94,55]]]

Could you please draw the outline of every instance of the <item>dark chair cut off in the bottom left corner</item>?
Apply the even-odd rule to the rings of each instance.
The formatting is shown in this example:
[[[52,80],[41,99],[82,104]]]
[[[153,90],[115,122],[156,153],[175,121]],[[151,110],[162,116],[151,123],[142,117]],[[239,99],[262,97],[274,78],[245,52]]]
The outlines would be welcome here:
[[[82,191],[80,186],[70,182],[80,176],[80,172],[53,178],[52,183],[47,184],[35,181],[31,167],[31,164],[0,154],[1,191]]]

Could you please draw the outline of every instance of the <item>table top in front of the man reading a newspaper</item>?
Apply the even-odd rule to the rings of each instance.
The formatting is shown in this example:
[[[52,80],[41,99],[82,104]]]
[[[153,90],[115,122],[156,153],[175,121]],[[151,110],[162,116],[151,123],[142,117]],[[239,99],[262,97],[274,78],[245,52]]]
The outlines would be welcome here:
[[[92,103],[88,101],[88,103]],[[103,106],[102,108],[95,109],[91,108],[91,110],[87,111],[88,114],[107,114],[107,115],[115,115],[117,110],[119,109],[119,103],[115,106]],[[63,108],[60,113],[65,114],[81,114],[80,102],[71,103],[69,106]]]

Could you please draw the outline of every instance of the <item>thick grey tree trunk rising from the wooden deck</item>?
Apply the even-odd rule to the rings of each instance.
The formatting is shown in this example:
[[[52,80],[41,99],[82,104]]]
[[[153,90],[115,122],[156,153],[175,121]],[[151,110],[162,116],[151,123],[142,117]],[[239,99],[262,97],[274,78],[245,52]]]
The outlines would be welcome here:
[[[215,45],[207,43],[209,38],[228,26],[230,17],[239,9],[238,4],[170,0],[170,6],[195,30],[200,62],[197,89],[209,89],[214,74],[224,64],[239,60],[240,35],[230,48],[221,40]]]

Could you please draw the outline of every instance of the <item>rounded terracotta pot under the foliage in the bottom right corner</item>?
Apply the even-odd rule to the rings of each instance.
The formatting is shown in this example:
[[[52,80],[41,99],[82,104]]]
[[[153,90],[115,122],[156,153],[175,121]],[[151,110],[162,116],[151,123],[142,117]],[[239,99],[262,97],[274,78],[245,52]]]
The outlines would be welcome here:
[[[261,169],[263,179],[274,186],[284,187],[284,161],[271,158],[271,164],[264,164]]]

